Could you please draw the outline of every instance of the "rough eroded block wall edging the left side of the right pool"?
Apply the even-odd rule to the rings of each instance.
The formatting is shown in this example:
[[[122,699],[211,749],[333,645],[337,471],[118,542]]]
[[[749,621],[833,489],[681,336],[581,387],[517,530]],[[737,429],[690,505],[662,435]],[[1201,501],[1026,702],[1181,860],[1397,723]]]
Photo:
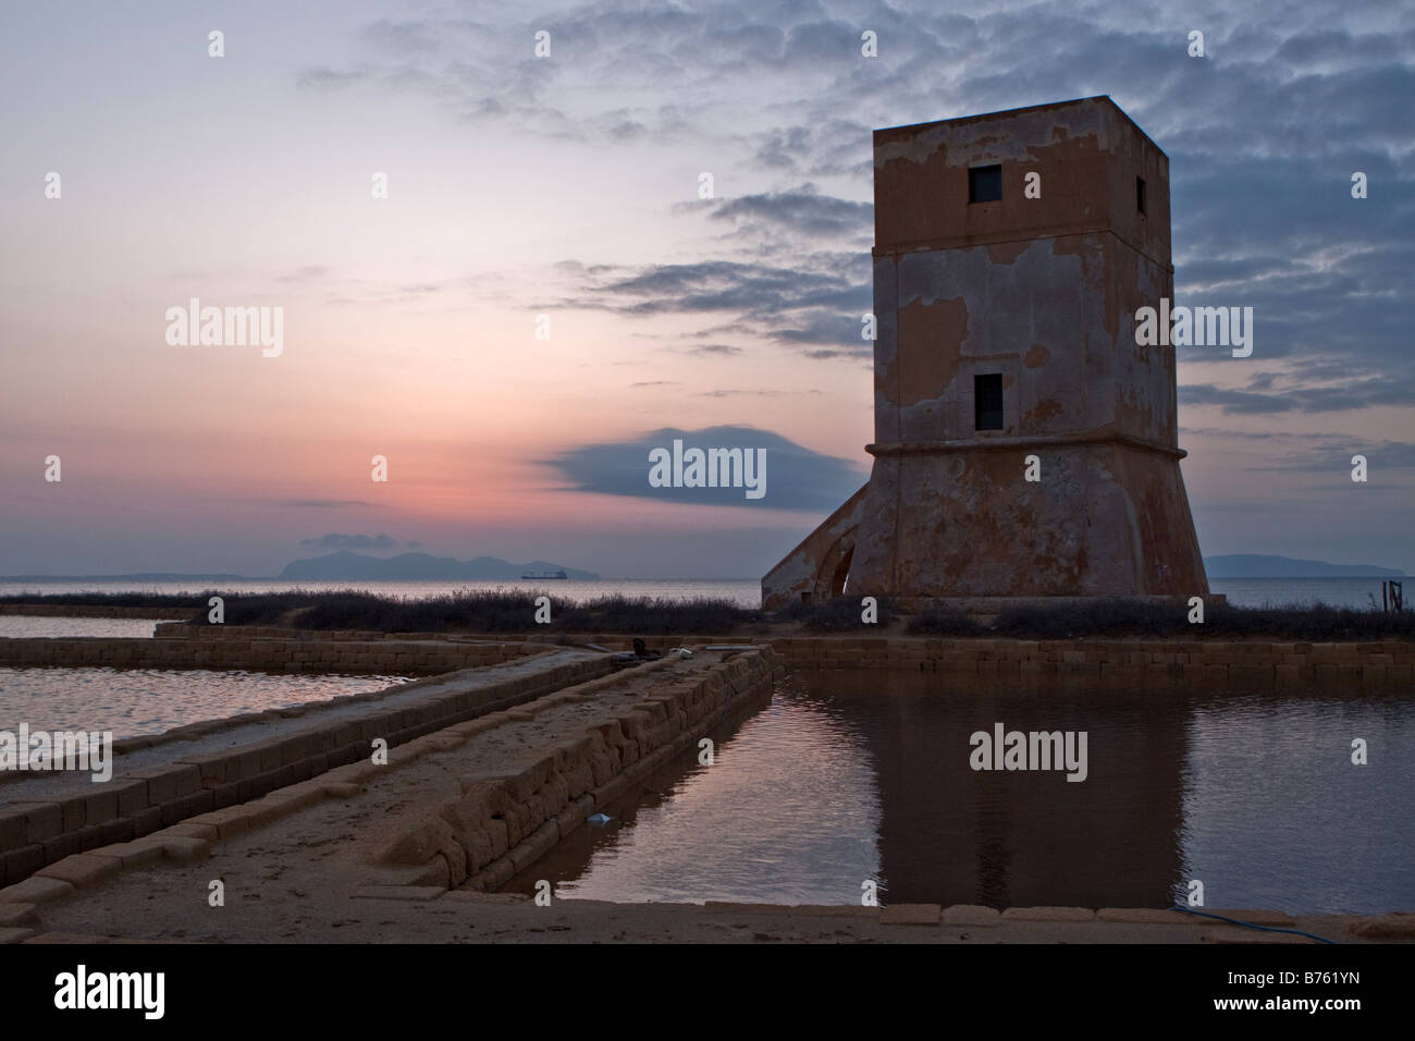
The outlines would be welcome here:
[[[596,807],[717,725],[760,708],[781,671],[771,649],[761,647],[655,687],[633,711],[594,724],[577,739],[531,752],[515,773],[464,776],[458,799],[393,836],[376,860],[416,868],[402,877],[409,884],[495,889]],[[580,693],[593,695],[594,686]]]

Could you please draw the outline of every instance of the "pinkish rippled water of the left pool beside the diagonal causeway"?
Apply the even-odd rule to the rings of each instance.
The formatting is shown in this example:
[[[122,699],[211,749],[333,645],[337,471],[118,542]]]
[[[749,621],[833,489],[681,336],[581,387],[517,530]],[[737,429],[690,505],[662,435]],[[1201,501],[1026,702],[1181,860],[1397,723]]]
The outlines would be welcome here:
[[[48,620],[48,619],[47,619]],[[204,669],[0,669],[0,729],[113,731],[115,738],[408,683],[402,676],[306,676]]]

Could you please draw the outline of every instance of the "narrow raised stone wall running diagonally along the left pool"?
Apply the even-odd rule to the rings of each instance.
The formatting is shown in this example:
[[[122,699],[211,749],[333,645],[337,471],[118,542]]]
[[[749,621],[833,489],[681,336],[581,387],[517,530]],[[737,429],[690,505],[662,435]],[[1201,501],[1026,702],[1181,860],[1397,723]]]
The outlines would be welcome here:
[[[427,697],[415,704],[381,705],[385,695],[408,690],[392,687],[331,702],[191,724],[157,736],[115,741],[112,780],[86,785],[81,793],[65,793],[52,800],[0,803],[0,885],[18,882],[45,864],[71,854],[126,843],[209,810],[259,799],[335,766],[368,759],[374,738],[383,738],[393,748],[453,724],[535,700],[567,684],[606,676],[611,669],[607,656],[584,657],[526,670],[495,683],[467,684],[463,690],[449,691],[433,681]],[[351,701],[368,702],[368,711],[354,718],[341,712],[338,719],[321,722],[324,712],[341,710]],[[170,761],[161,766],[123,769],[122,756],[133,749],[197,739],[214,731],[258,721],[289,721],[289,717],[306,717],[313,725],[204,755],[184,755],[177,746]],[[0,779],[20,782],[27,776],[10,773],[0,775]],[[0,783],[0,799],[6,797],[6,787],[7,785]]]

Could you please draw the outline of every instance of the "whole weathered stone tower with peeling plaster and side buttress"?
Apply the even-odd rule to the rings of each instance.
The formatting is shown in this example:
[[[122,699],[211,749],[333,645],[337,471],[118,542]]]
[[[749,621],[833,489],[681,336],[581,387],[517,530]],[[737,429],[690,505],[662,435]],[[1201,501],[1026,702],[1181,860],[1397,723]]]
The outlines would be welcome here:
[[[1174,350],[1135,343],[1167,156],[1104,96],[876,130],[873,258],[870,480],[764,605],[1207,595]]]

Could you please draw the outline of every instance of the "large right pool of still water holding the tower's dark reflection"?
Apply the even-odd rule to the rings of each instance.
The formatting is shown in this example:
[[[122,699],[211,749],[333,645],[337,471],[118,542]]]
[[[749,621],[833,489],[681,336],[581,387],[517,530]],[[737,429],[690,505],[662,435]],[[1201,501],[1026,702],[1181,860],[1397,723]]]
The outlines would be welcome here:
[[[1087,779],[974,770],[995,724],[1085,731]],[[1364,738],[1367,766],[1351,763]],[[1415,698],[969,693],[798,673],[508,888],[563,898],[1415,908]]]

